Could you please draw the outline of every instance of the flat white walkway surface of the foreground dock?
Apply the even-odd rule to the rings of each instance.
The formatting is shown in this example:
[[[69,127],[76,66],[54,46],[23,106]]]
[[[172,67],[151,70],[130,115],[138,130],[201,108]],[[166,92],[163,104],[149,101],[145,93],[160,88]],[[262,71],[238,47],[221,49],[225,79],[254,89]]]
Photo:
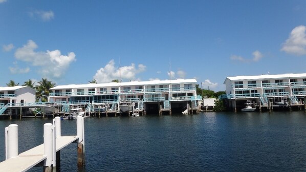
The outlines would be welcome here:
[[[77,139],[79,139],[79,136],[57,137],[55,143],[56,152]],[[46,155],[43,155],[43,152],[43,144],[40,144],[30,150],[27,150],[26,152],[19,154],[15,158],[0,162],[0,170],[6,172],[27,171],[47,158]]]

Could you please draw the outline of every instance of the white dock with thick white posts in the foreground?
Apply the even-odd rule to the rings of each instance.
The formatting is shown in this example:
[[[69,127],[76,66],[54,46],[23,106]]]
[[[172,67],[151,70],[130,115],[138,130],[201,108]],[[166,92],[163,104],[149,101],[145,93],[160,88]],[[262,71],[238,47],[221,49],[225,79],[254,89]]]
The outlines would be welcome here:
[[[60,135],[60,117],[54,119],[54,125],[46,123],[43,126],[44,143],[33,147],[18,155],[18,126],[11,124],[6,127],[6,160],[0,162],[1,171],[20,172],[27,171],[34,166],[43,166],[43,171],[54,171],[60,159],[57,155],[65,146],[78,143],[79,166],[84,165],[83,146],[84,128],[83,117],[77,117],[77,136]],[[56,129],[56,127],[58,127]],[[57,157],[58,156],[58,157]],[[80,158],[79,158],[80,157]],[[59,161],[59,162],[57,162]],[[54,168],[54,169],[53,169]],[[56,171],[56,170],[55,170]]]

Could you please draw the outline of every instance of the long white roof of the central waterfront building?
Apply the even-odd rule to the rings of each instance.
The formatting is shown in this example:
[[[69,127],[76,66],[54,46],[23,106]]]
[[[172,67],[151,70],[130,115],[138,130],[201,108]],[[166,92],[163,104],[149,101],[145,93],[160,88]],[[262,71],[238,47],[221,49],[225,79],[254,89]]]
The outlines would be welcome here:
[[[76,89],[76,88],[97,88],[97,87],[120,87],[131,85],[156,85],[156,84],[176,84],[176,83],[193,83],[195,79],[176,79],[176,80],[153,80],[153,81],[132,81],[132,82],[110,82],[110,83],[88,83],[88,84],[70,84],[57,85],[50,90]]]

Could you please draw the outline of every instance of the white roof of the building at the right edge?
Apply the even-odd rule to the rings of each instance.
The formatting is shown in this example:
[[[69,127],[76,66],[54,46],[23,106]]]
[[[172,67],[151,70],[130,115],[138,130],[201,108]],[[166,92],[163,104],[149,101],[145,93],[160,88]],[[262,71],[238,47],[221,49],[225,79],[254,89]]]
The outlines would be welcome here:
[[[301,78],[306,77],[306,73],[301,74],[278,74],[278,75],[254,75],[254,76],[233,76],[227,77],[225,80],[250,80],[250,79],[276,79],[276,78]],[[225,82],[225,81],[224,81]]]

